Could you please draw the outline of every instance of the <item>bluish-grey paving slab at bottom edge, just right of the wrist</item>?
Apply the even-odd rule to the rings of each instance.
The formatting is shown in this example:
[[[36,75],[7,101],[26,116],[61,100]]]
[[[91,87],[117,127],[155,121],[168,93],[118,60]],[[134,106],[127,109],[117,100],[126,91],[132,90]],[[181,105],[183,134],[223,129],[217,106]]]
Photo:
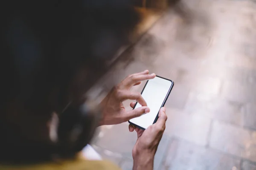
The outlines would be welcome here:
[[[240,161],[237,157],[175,139],[162,170],[240,170]]]

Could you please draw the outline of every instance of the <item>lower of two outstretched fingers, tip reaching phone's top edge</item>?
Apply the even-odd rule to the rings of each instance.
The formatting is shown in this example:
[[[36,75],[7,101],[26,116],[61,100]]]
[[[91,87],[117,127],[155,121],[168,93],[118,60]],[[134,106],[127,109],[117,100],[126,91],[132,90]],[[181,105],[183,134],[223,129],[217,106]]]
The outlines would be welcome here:
[[[127,87],[130,88],[132,85],[136,84],[137,82],[141,82],[143,80],[148,80],[148,79],[154,79],[156,77],[156,74],[139,74],[139,75],[131,75],[128,76],[123,84]]]

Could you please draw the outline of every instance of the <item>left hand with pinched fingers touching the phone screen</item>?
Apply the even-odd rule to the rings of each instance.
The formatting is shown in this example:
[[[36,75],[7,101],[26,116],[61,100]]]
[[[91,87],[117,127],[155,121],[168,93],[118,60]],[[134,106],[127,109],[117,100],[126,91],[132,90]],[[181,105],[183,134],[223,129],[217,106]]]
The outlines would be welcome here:
[[[141,81],[154,79],[154,77],[156,74],[148,74],[148,70],[145,70],[129,75],[116,85],[101,102],[103,117],[100,125],[116,125],[141,116],[143,113],[149,113],[150,110],[141,94],[131,92],[130,89],[134,85],[139,85]],[[136,100],[142,107],[126,111],[122,102],[127,99]]]

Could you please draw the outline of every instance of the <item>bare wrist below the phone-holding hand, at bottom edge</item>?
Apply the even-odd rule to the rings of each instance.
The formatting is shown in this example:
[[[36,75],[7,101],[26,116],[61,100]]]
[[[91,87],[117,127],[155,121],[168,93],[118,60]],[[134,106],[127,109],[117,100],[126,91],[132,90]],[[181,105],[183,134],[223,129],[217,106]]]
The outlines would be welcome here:
[[[133,170],[153,170],[154,155],[150,153],[137,154],[134,156]]]

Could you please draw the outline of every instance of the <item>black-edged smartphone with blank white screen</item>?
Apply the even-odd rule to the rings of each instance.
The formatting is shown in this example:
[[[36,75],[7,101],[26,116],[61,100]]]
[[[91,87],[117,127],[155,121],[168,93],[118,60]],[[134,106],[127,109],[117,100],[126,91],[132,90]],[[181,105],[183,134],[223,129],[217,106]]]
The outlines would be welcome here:
[[[141,92],[141,95],[147,102],[150,112],[131,119],[128,122],[143,130],[157,122],[159,110],[166,103],[173,86],[174,82],[172,80],[160,76],[156,76],[154,79],[148,80]],[[139,107],[141,107],[141,105],[137,102],[133,109]]]

